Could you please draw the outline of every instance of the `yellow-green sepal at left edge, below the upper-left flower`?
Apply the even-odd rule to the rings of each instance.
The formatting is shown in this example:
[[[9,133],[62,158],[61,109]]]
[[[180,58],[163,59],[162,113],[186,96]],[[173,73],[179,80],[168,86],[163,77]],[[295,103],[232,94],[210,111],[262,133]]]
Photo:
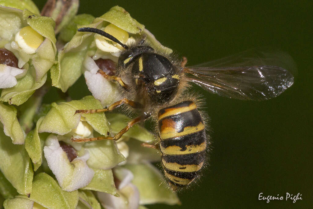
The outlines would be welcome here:
[[[5,135],[11,137],[13,144],[24,144],[25,133],[18,123],[16,114],[15,107],[0,102],[0,121],[3,124]]]

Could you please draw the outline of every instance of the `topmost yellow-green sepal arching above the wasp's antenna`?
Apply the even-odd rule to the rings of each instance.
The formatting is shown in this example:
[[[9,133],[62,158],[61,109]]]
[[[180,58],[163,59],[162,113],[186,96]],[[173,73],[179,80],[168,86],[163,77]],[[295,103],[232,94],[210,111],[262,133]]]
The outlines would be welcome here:
[[[107,13],[97,18],[109,22],[128,33],[140,34],[145,28],[144,25],[138,23],[124,8],[119,6],[112,7]]]

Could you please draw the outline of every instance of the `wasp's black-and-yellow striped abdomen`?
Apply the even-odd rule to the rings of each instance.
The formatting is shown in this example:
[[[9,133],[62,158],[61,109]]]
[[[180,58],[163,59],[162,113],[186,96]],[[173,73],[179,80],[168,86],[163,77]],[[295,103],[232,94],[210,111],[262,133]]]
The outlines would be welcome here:
[[[184,101],[158,112],[162,166],[172,190],[188,185],[202,168],[205,127],[197,106]]]

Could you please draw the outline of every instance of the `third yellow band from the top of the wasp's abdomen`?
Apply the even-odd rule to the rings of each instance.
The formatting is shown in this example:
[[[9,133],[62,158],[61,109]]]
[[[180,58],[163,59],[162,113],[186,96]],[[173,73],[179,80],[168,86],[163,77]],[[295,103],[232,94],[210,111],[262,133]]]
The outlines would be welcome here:
[[[178,146],[169,146],[167,148],[161,147],[161,152],[163,154],[170,154],[170,155],[177,155],[177,154],[191,154],[191,153],[197,153],[205,150],[207,147],[206,142],[203,142],[202,144],[199,145],[189,145],[186,146],[186,150],[180,151],[182,148]]]

